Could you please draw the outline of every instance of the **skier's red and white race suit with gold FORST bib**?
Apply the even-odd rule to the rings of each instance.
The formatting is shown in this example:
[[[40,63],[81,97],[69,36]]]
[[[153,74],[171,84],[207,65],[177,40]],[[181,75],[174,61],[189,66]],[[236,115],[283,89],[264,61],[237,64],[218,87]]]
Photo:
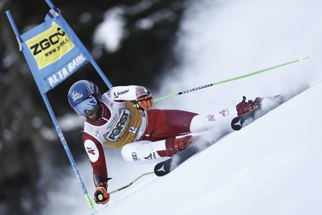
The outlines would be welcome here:
[[[158,151],[167,150],[166,139],[212,130],[223,118],[222,112],[208,117],[180,110],[140,112],[130,102],[137,98],[136,88],[135,85],[111,88],[102,95],[101,118],[96,122],[85,121],[82,139],[93,174],[107,177],[103,145],[121,148],[126,161],[140,164],[164,161],[168,157],[160,156]],[[228,116],[229,112],[236,116],[233,109],[224,111]]]

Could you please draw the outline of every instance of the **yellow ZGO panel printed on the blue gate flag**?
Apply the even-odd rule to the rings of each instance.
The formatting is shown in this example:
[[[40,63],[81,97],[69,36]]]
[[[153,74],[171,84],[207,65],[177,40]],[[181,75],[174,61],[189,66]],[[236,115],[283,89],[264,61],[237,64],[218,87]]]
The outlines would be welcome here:
[[[51,28],[26,41],[26,44],[39,69],[59,60],[74,47],[67,34],[55,22],[52,22]]]

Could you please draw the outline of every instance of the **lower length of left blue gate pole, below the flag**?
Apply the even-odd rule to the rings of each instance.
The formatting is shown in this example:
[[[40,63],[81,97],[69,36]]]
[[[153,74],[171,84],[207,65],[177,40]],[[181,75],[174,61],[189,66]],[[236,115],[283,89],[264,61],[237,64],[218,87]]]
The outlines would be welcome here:
[[[77,169],[77,166],[76,166],[76,163],[74,161],[74,158],[71,155],[71,151],[69,150],[69,147],[68,147],[67,142],[65,140],[65,137],[64,137],[64,135],[62,133],[62,130],[61,130],[61,128],[60,128],[60,126],[59,126],[59,124],[57,122],[56,116],[55,116],[54,112],[52,111],[52,107],[51,107],[51,105],[50,105],[50,103],[48,101],[48,98],[47,98],[46,94],[42,94],[42,97],[43,97],[43,101],[46,104],[47,110],[48,110],[48,112],[50,114],[50,117],[52,118],[52,122],[55,125],[56,131],[57,131],[58,136],[59,136],[59,138],[60,138],[60,140],[62,142],[62,145],[64,146],[64,149],[66,151],[68,159],[71,162],[71,166],[72,166],[72,168],[73,168],[73,170],[74,170],[74,172],[76,174],[76,178],[78,179],[78,182],[81,185],[81,189],[82,189],[82,191],[83,191],[83,193],[85,195],[85,199],[86,199],[86,201],[88,203],[88,206],[90,207],[91,210],[94,210],[94,205],[93,205],[92,201],[90,200],[90,196],[88,195],[88,192],[86,190],[86,187],[85,187],[83,181],[81,180],[81,175],[80,175],[80,173],[79,173],[79,171]]]

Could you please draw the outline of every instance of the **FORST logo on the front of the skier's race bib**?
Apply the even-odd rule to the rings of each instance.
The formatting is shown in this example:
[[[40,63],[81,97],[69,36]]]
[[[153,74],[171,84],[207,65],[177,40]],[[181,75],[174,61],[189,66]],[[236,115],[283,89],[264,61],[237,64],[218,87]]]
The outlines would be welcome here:
[[[128,123],[128,119],[131,116],[131,111],[128,108],[122,108],[119,110],[120,115],[118,117],[117,123],[111,128],[111,130],[104,134],[105,140],[109,142],[117,142],[119,136],[124,131],[126,124]]]

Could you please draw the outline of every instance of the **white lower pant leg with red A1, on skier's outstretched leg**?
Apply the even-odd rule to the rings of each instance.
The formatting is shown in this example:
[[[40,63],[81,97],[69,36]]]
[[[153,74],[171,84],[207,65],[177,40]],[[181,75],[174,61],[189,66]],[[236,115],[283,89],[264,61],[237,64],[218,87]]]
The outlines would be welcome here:
[[[222,126],[228,126],[231,120],[237,116],[236,108],[224,108],[210,115],[196,115],[190,123],[190,132],[199,133],[214,130]]]

